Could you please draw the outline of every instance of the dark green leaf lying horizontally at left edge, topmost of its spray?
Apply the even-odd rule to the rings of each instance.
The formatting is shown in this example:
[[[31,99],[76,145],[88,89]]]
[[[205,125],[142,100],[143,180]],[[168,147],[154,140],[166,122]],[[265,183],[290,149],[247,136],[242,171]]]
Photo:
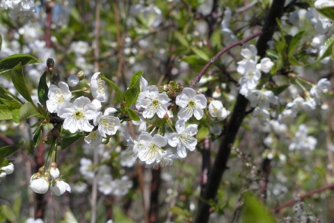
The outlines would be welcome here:
[[[27,54],[13,54],[0,61],[0,70],[3,71],[13,69],[19,63],[24,66],[32,63],[40,63],[40,61]]]

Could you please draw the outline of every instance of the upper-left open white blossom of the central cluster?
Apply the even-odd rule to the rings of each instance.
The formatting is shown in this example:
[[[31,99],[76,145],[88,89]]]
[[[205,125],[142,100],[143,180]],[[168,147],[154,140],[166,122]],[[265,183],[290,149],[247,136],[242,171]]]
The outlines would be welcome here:
[[[164,118],[168,111],[166,104],[170,101],[166,92],[159,93],[157,86],[148,86],[143,91],[145,98],[141,98],[136,102],[136,108],[143,108],[143,117],[152,118],[157,113],[159,118]]]

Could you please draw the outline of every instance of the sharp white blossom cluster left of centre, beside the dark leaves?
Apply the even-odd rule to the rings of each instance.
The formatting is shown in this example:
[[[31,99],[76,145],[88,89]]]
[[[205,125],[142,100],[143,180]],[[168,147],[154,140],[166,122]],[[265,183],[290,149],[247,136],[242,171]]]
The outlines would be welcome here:
[[[64,118],[63,128],[72,133],[83,131],[90,132],[85,137],[85,142],[91,146],[102,143],[107,135],[116,134],[120,127],[120,119],[114,117],[116,109],[107,108],[100,112],[101,102],[106,102],[106,89],[104,81],[100,78],[100,72],[96,72],[90,80],[90,91],[95,100],[81,96],[70,102],[72,93],[65,82],[59,82],[58,86],[51,85],[47,100],[47,109],[51,113],[57,113]],[[97,126],[97,130],[93,130]]]

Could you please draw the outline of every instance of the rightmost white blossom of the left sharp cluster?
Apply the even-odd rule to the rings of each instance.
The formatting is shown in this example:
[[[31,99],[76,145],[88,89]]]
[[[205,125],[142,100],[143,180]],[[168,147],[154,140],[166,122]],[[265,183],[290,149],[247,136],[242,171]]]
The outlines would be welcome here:
[[[116,134],[118,128],[120,128],[120,118],[114,117],[113,113],[117,112],[113,107],[109,107],[102,112],[99,112],[97,117],[94,118],[94,125],[98,125],[98,132],[102,137],[106,138],[106,135]]]

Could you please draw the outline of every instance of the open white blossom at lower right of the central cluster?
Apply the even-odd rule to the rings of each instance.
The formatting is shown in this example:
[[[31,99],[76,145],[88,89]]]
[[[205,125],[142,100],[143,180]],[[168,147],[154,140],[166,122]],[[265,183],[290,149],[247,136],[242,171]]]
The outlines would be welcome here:
[[[186,157],[186,148],[189,151],[193,151],[197,145],[197,139],[193,137],[197,134],[196,124],[191,124],[186,127],[186,122],[183,119],[178,120],[175,123],[176,132],[173,132],[168,137],[168,144],[170,146],[177,146],[177,155],[180,157]]]

